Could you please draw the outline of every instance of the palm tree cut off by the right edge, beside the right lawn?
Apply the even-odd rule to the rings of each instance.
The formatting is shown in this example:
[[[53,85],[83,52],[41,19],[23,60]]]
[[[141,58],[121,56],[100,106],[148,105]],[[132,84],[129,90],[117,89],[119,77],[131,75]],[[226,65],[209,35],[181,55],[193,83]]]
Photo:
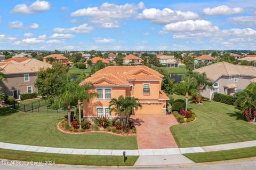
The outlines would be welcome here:
[[[239,92],[234,104],[241,108],[242,111],[248,109],[252,116],[253,110],[256,109],[256,83],[250,84],[245,90]],[[252,116],[252,122],[255,122],[255,115]]]

